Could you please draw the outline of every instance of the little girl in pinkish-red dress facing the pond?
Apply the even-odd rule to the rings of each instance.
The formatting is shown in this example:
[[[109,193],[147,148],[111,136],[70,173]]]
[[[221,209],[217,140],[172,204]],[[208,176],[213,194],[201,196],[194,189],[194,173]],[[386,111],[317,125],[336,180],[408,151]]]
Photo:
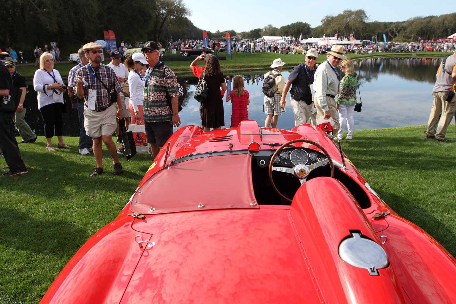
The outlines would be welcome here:
[[[249,113],[247,112],[247,106],[250,104],[249,92],[244,90],[244,78],[241,75],[234,77],[230,99],[233,104],[230,128],[237,128],[241,121],[249,119]]]

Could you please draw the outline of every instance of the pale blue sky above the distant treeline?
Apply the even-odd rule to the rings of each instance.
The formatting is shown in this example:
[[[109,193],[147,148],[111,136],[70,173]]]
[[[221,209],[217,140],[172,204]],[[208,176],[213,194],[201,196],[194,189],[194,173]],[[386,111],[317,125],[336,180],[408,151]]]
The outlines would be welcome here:
[[[193,24],[206,31],[237,32],[262,28],[268,24],[279,28],[301,21],[311,27],[321,24],[326,15],[337,15],[344,10],[363,9],[369,21],[405,21],[416,16],[449,14],[447,5],[431,5],[429,1],[383,0],[383,1],[335,1],[311,2],[303,0],[231,0],[201,2],[183,0],[192,15]],[[280,5],[283,4],[283,5]]]

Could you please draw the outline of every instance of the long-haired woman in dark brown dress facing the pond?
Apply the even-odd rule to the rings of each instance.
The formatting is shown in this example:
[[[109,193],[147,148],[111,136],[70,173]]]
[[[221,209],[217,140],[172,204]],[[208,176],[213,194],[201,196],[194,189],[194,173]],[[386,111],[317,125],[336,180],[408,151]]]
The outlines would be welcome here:
[[[202,79],[203,75],[207,84],[208,96],[206,107],[202,109],[201,125],[204,131],[207,132],[210,128],[217,130],[225,125],[220,87],[222,87],[223,91],[226,91],[227,84],[225,83],[225,77],[220,68],[218,58],[215,56],[207,58],[206,68],[201,72],[200,79]]]

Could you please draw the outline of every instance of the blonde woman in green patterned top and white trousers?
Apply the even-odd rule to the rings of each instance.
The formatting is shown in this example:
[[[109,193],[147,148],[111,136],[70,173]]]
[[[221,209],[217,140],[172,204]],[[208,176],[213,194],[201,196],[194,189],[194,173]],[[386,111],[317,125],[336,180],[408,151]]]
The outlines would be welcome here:
[[[348,133],[347,139],[352,139],[355,122],[353,113],[356,105],[356,88],[358,79],[356,77],[355,67],[350,59],[341,62],[342,72],[345,76],[339,84],[339,94],[337,95],[336,109],[339,111],[339,121],[341,127],[337,132],[337,139],[342,140],[345,122],[347,121]]]

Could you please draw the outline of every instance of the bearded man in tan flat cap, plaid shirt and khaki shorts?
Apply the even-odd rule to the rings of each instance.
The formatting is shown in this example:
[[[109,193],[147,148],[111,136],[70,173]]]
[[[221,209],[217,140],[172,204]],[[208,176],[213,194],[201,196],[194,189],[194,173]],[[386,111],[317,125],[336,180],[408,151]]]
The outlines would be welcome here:
[[[116,116],[122,119],[122,103],[119,93],[122,86],[111,67],[101,63],[102,46],[90,42],[83,46],[85,57],[89,63],[76,72],[76,94],[84,98],[84,127],[87,135],[93,140],[93,155],[97,167],[91,176],[103,173],[103,151],[101,143],[104,142],[114,163],[114,175],[122,172],[116,152],[116,145],[112,134],[117,126]],[[85,82],[85,83],[84,83]],[[87,84],[86,84],[87,83]],[[118,109],[114,107],[114,100]]]

